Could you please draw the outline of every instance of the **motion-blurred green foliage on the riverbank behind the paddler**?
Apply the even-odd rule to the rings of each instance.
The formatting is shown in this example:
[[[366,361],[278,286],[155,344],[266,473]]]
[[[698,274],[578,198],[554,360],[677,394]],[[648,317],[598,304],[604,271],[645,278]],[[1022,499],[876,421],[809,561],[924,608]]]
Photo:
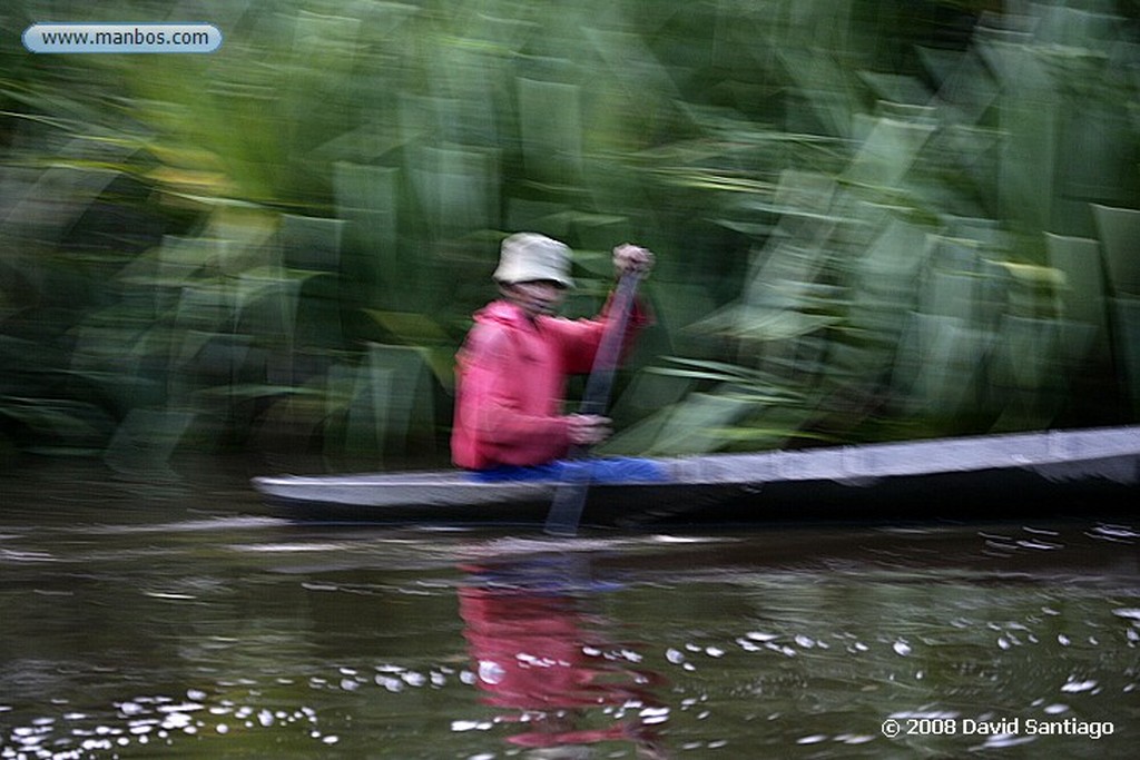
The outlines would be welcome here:
[[[212,55],[33,55],[35,22]],[[499,240],[653,248],[608,452],[1140,418],[1134,0],[0,9],[0,461],[446,464]]]

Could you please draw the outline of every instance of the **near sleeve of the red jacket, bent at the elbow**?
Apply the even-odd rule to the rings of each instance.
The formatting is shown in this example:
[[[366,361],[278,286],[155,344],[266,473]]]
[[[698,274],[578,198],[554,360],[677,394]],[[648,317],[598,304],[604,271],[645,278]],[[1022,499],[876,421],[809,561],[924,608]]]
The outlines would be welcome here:
[[[472,333],[463,356],[463,398],[458,423],[495,447],[495,459],[532,465],[564,456],[570,448],[568,420],[522,409],[514,389],[520,359],[510,336],[495,326]]]

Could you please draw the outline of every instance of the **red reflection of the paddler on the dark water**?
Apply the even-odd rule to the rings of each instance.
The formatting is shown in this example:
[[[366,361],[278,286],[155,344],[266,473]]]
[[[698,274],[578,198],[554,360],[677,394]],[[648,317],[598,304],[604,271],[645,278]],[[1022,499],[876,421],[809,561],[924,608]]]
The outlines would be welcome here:
[[[597,627],[581,608],[589,589],[581,569],[536,559],[515,565],[467,567],[470,585],[459,588],[459,614],[475,664],[483,702],[524,713],[526,733],[512,744],[553,747],[602,741],[632,741],[656,754],[649,727],[637,720],[585,728],[585,709],[657,704],[649,687],[656,677],[624,667],[588,634]],[[628,663],[626,663],[628,664]]]

